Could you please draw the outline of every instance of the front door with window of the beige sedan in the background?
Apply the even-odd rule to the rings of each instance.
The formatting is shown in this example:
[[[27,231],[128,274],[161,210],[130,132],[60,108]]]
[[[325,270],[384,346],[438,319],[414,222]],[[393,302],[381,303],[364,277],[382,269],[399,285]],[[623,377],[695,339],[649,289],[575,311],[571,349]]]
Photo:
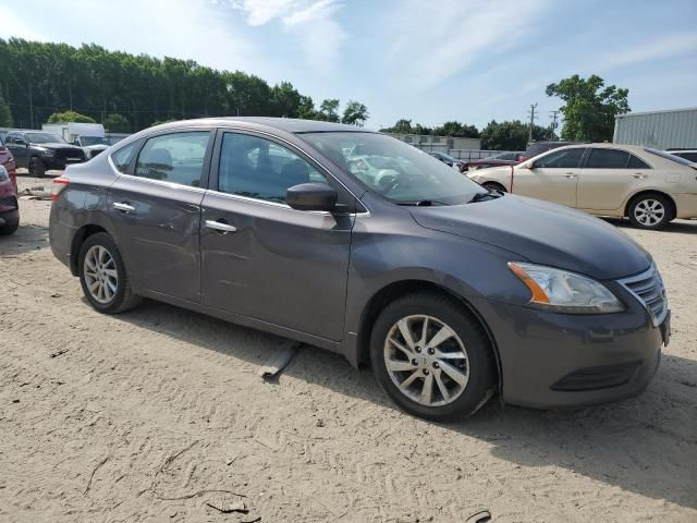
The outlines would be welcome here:
[[[576,182],[578,181],[583,147],[553,150],[528,166],[513,170],[513,193],[533,198],[576,207]]]

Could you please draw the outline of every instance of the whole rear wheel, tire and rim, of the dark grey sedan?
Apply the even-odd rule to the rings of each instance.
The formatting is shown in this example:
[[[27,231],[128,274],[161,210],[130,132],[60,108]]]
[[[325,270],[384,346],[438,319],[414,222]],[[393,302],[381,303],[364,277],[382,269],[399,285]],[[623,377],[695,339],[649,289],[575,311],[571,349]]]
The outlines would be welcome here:
[[[85,240],[78,268],[85,297],[100,313],[123,313],[140,302],[140,296],[131,289],[123,258],[109,234],[99,232]]]

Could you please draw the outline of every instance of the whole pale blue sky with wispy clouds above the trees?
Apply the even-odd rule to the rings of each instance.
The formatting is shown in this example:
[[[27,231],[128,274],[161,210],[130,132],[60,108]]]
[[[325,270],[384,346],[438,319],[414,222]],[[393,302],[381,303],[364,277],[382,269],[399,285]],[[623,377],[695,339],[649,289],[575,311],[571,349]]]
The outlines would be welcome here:
[[[549,83],[598,74],[633,111],[697,107],[697,0],[0,0],[0,37],[194,59],[316,105],[354,99],[368,127],[406,118],[549,125]]]

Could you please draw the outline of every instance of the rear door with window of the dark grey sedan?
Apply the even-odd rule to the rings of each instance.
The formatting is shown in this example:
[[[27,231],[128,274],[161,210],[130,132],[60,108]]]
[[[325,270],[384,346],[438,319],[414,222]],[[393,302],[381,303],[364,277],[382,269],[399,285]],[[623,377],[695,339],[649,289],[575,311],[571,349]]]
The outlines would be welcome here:
[[[126,173],[107,204],[129,272],[145,289],[200,302],[200,203],[207,183],[211,130],[166,132],[111,156]]]

